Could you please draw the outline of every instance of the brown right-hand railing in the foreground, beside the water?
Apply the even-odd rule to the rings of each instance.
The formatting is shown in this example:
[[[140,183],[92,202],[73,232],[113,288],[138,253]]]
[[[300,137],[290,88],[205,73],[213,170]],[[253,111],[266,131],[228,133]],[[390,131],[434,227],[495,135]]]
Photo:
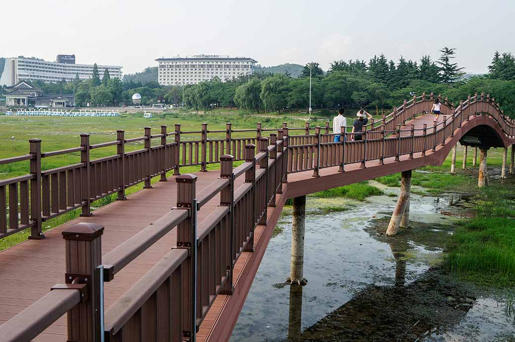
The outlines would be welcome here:
[[[266,225],[267,208],[282,193],[284,131],[259,142],[257,154],[253,144],[245,146],[245,162],[236,168],[233,156],[221,156],[220,177],[199,193],[196,176],[177,177],[177,207],[104,257],[103,227],[81,223],[64,230],[66,284],[0,326],[2,340],[30,341],[66,312],[68,340],[194,340],[216,296],[233,293],[234,264],[253,251],[254,230]],[[239,177],[244,180],[235,186]],[[197,223],[197,212],[216,196],[219,205]],[[115,281],[174,228],[176,246],[104,311],[104,282]]]

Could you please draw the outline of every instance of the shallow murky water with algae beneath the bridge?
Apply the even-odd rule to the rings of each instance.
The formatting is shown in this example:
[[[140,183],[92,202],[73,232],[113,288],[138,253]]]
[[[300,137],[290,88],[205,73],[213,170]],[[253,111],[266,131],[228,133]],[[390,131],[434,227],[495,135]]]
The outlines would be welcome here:
[[[452,233],[445,226],[459,218],[441,212],[466,209],[466,201],[458,197],[412,195],[411,220],[434,225],[435,234]],[[333,205],[354,206],[343,212],[307,214],[304,277],[308,283],[302,288],[284,285],[291,246],[291,216],[284,215],[279,223],[283,231],[268,245],[231,341],[282,341],[288,336],[293,341],[468,341],[513,336],[509,293],[479,298],[474,288],[432,268],[439,263],[441,248],[408,241],[407,251],[399,250],[369,233],[377,225],[375,218],[391,213],[396,201],[388,196],[357,203],[331,199]],[[306,210],[320,202],[308,197]],[[511,304],[503,304],[507,302]],[[503,305],[508,309],[503,310]]]

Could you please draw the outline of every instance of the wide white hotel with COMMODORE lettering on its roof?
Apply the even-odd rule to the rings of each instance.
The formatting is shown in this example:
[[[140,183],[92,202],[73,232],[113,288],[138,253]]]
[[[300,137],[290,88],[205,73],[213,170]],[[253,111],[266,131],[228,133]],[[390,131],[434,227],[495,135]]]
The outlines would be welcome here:
[[[226,55],[195,55],[185,58],[158,58],[158,81],[162,86],[197,84],[214,77],[222,81],[252,74],[257,61]]]

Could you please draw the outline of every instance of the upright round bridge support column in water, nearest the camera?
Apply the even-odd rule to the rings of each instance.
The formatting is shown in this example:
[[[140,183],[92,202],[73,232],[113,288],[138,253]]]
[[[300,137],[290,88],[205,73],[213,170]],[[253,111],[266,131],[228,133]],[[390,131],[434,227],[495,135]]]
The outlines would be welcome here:
[[[304,231],[306,219],[306,196],[293,199],[293,220],[291,224],[290,276],[286,279],[292,285],[305,285],[304,276]]]

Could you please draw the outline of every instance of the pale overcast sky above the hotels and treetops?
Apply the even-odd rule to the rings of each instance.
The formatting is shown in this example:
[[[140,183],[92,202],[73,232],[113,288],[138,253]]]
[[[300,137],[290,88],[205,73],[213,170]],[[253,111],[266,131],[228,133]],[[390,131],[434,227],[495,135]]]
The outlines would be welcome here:
[[[457,48],[468,73],[485,73],[495,50],[515,53],[515,2],[369,0],[55,0],[5,1],[0,57],[122,65],[220,54],[262,65],[337,59],[436,59]]]

